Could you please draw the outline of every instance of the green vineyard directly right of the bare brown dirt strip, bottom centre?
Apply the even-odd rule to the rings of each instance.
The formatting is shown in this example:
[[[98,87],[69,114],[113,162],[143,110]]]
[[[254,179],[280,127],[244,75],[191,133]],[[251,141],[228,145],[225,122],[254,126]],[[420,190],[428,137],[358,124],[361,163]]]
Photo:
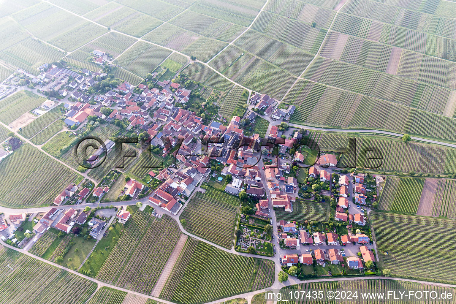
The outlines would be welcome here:
[[[274,275],[273,261],[234,255],[189,238],[160,297],[205,303],[269,287]]]

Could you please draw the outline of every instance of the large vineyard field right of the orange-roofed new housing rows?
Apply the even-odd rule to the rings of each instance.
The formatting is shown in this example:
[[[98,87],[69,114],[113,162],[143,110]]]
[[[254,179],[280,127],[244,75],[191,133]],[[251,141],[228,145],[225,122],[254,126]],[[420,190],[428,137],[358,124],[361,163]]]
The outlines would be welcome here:
[[[456,282],[451,267],[456,250],[448,246],[453,242],[456,221],[375,211],[370,217],[383,268],[402,278]],[[387,255],[380,254],[383,252]],[[439,257],[439,267],[426,262],[430,256]]]

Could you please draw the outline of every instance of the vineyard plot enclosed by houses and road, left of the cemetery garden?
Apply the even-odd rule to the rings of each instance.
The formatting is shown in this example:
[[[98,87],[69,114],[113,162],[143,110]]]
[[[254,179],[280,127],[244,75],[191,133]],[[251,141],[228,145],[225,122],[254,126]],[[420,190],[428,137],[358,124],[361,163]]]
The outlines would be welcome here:
[[[237,197],[207,187],[205,193],[197,192],[193,196],[180,218],[186,220],[188,232],[231,248],[238,211]]]

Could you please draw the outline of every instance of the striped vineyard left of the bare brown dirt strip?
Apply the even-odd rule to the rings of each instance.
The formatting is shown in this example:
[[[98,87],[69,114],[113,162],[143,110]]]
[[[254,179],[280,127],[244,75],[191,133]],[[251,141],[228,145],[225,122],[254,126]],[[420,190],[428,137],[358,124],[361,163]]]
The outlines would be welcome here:
[[[180,234],[171,217],[136,211],[96,278],[151,294]]]

